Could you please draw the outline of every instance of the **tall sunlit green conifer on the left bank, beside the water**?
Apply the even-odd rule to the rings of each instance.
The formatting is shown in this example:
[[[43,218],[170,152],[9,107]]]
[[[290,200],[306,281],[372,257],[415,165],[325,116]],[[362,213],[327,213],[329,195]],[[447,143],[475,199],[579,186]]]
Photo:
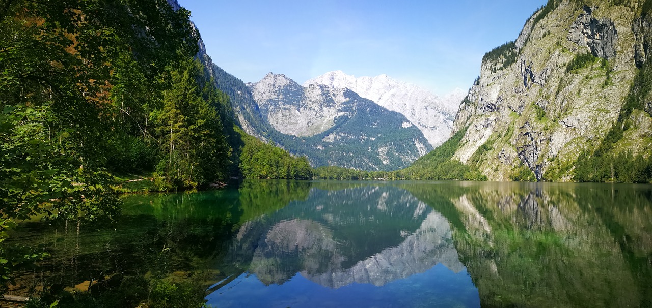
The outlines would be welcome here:
[[[218,111],[202,96],[201,76],[198,61],[181,63],[170,74],[162,108],[150,115],[160,147],[156,176],[166,188],[198,188],[227,176],[231,148]],[[215,89],[207,94],[218,95]]]

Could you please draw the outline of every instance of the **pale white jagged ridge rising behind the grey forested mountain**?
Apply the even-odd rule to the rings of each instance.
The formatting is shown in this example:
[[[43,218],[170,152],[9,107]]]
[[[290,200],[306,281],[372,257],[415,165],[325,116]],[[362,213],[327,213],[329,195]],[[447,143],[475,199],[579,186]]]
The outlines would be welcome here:
[[[455,112],[466,95],[458,90],[440,98],[426,89],[392,79],[385,74],[356,78],[340,70],[310,79],[303,86],[316,84],[336,89],[348,88],[363,98],[404,115],[421,130],[433,147],[448,139]]]

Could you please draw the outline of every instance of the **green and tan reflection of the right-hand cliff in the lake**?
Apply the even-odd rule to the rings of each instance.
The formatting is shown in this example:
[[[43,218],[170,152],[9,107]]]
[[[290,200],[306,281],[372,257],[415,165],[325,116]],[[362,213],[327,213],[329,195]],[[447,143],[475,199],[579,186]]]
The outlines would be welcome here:
[[[451,221],[455,247],[482,305],[652,305],[649,186],[408,189]]]

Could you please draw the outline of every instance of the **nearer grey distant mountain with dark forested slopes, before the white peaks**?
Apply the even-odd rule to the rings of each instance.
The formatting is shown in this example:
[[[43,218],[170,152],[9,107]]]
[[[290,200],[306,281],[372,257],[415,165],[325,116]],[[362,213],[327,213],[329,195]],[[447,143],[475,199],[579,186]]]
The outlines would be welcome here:
[[[226,80],[217,75],[218,85]],[[349,89],[304,88],[282,74],[268,74],[250,83],[249,93],[227,92],[236,95],[243,127],[308,156],[313,165],[395,170],[432,149],[406,117]]]

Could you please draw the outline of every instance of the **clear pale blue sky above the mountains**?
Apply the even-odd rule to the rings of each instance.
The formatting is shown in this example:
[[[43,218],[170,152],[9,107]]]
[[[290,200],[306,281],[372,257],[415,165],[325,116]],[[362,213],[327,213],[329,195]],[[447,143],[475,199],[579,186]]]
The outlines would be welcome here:
[[[516,39],[545,0],[209,1],[192,11],[213,61],[245,82],[303,83],[331,70],[387,74],[445,94],[468,89],[482,55]]]

